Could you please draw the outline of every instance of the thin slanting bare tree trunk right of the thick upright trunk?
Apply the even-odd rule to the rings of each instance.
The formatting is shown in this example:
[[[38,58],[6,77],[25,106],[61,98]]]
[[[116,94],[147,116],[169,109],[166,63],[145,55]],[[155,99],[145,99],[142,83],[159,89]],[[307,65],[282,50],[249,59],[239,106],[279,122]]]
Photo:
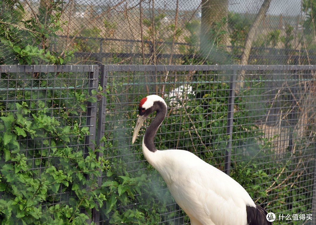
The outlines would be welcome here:
[[[258,29],[259,24],[264,20],[265,14],[267,13],[269,6],[270,6],[270,2],[271,0],[264,0],[258,15],[256,16],[255,21],[253,22],[253,24],[251,25],[249,32],[247,34],[246,37],[246,41],[245,41],[245,45],[244,45],[244,51],[241,55],[241,59],[240,59],[240,64],[241,65],[246,65],[248,64],[248,59],[249,59],[249,55],[250,55],[250,50],[251,50],[251,46],[252,46],[252,41],[254,41],[255,37],[256,37],[256,32]],[[236,80],[237,81],[243,81],[244,80],[244,76],[245,75],[245,71],[241,71],[241,73],[239,75],[237,75]],[[244,83],[243,82],[237,82],[236,83],[236,94],[239,93],[239,89],[243,88]]]

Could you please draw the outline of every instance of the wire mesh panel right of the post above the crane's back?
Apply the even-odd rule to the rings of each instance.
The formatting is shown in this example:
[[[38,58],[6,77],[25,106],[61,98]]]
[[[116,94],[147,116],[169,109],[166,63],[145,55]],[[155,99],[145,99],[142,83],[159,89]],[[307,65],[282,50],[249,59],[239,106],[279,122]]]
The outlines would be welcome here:
[[[243,89],[235,99],[238,135],[232,161],[236,168],[255,169],[255,176],[263,178],[252,180],[254,174],[248,174],[244,186],[254,182],[256,202],[280,210],[276,223],[308,224],[304,216],[313,213],[306,200],[313,196],[315,168],[315,68],[243,68]],[[256,187],[266,196],[259,197]]]

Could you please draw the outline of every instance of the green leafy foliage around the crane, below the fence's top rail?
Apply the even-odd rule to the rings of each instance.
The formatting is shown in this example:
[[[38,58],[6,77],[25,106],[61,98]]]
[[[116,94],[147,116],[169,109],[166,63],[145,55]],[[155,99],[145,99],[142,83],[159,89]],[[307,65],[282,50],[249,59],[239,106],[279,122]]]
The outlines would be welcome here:
[[[41,73],[37,79],[27,74],[28,79],[15,81],[19,80],[22,87],[32,80],[29,84],[37,84],[43,91],[16,89],[14,79],[2,73],[5,86],[12,87],[1,90],[2,224],[89,224],[95,221],[96,214],[108,224],[188,221],[181,209],[174,208],[160,175],[145,162],[141,138],[131,146],[136,105],[143,97],[134,94],[135,87],[139,93],[163,88],[169,93],[175,82],[192,85],[194,93],[181,101],[174,103],[165,96],[167,104],[173,105],[169,105],[168,116],[156,136],[157,147],[192,151],[223,170],[229,138],[229,82],[225,72],[179,72],[169,75],[168,83],[161,81],[165,80],[162,74],[156,76],[157,83],[150,84],[146,73],[135,76],[131,72],[112,72],[105,89],[99,86],[92,95],[84,88],[47,88],[45,76],[50,73]],[[58,76],[62,79],[54,78],[57,86],[66,85],[67,79],[76,80],[72,72]],[[231,176],[267,210],[276,214],[311,213],[310,170],[315,165],[310,156],[314,148],[304,143],[312,143],[314,135],[297,139],[295,153],[275,152],[275,137],[264,140],[262,130],[254,126],[264,112],[249,110],[254,107],[251,99],[262,94],[258,90],[265,90],[264,82],[248,82],[248,86],[256,88],[245,89],[240,95],[243,97],[235,102],[238,111],[234,114]],[[104,137],[100,144],[86,148],[87,104],[96,103],[100,95],[106,99]],[[286,93],[282,96],[284,107],[292,107],[286,105]]]

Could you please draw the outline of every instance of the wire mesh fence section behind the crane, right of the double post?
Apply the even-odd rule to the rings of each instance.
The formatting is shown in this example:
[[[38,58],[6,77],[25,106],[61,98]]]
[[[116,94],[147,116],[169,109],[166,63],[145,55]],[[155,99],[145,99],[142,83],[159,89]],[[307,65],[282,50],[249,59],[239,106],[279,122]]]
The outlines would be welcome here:
[[[229,172],[257,204],[276,214],[274,224],[311,222],[315,69],[104,66],[101,85],[107,87],[108,94],[101,105],[98,132],[105,136],[104,155],[115,172],[102,179],[122,182],[122,176],[128,174],[141,187],[125,204],[118,200],[114,214],[101,213],[100,222],[107,224],[126,209],[144,212],[144,222],[152,224],[188,222],[161,176],[141,153],[145,127],[155,115],[145,122],[136,144],[131,144],[138,103],[150,94],[160,95],[168,106],[155,137],[158,149],[187,150]],[[235,90],[237,97],[232,94],[235,86],[240,87]]]

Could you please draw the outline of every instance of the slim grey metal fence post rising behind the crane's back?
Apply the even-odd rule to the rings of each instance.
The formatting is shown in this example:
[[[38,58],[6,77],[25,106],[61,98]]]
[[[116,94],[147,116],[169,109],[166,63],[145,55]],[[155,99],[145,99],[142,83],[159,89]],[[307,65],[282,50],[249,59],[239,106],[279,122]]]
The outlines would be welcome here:
[[[231,70],[229,83],[229,97],[228,97],[228,114],[227,114],[227,130],[229,135],[228,143],[225,151],[225,165],[224,172],[230,173],[230,158],[232,152],[232,136],[233,136],[233,120],[234,120],[234,100],[235,100],[235,85],[236,85],[236,69]]]

